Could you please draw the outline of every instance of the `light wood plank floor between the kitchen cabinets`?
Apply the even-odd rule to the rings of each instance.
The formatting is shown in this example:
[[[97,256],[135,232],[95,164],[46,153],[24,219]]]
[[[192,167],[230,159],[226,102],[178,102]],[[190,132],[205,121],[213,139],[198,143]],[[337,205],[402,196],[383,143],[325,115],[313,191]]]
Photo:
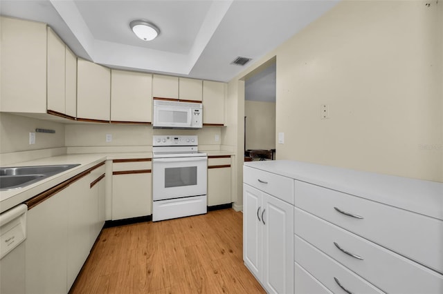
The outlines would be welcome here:
[[[242,213],[103,229],[70,293],[266,293],[244,266]]]

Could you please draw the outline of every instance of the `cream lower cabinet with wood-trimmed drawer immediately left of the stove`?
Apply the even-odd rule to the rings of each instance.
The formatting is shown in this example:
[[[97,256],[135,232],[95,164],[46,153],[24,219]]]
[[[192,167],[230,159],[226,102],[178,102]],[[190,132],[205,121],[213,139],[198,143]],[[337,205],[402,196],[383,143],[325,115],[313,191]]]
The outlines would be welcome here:
[[[112,220],[152,215],[151,159],[114,159]]]

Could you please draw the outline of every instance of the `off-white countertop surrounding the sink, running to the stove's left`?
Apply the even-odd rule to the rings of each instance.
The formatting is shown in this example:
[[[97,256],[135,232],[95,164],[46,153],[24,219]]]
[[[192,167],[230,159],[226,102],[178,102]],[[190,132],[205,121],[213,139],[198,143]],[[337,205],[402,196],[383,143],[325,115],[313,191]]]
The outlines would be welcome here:
[[[0,213],[8,210],[35,195],[60,184],[71,177],[82,173],[84,170],[99,164],[107,159],[136,159],[136,158],[152,158],[152,153],[109,153],[109,154],[70,154],[54,157],[44,157],[40,159],[22,161],[17,164],[8,164],[7,166],[47,166],[55,164],[80,164],[62,173],[42,179],[24,188],[0,191]]]

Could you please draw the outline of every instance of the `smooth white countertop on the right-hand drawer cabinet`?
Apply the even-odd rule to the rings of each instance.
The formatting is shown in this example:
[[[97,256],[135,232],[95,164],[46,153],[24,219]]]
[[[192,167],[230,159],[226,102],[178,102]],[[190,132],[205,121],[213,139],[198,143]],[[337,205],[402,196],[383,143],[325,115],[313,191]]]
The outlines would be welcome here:
[[[250,161],[244,166],[443,219],[443,183],[440,182],[291,160]]]

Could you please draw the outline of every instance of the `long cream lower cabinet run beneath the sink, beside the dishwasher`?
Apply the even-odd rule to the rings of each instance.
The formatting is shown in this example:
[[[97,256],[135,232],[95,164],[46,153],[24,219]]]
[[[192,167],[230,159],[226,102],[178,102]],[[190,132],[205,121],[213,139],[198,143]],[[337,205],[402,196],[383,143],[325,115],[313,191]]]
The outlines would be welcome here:
[[[26,293],[69,292],[104,224],[98,173],[104,165],[26,202]]]

